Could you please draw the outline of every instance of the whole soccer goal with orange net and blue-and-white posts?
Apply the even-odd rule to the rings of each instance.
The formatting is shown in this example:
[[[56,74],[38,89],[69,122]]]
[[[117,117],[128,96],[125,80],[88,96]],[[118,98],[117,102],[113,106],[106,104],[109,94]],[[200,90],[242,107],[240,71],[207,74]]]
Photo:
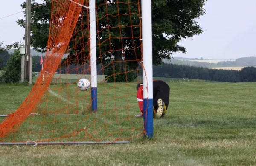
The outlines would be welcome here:
[[[0,144],[130,143],[153,137],[151,0],[52,0],[31,92],[0,119]],[[79,79],[90,80],[81,91]],[[144,116],[136,86],[143,82]]]

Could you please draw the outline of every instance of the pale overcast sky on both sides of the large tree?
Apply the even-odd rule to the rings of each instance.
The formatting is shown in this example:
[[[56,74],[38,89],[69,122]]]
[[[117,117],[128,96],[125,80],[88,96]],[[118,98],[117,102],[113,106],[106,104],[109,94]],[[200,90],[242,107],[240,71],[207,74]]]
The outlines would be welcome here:
[[[0,18],[22,11],[25,0],[1,0]],[[40,1],[40,0],[38,0]],[[203,34],[183,39],[187,53],[174,56],[204,59],[236,59],[256,56],[256,0],[208,0],[206,14],[198,20]],[[23,41],[25,30],[16,20],[23,13],[0,19],[0,40],[4,45]]]

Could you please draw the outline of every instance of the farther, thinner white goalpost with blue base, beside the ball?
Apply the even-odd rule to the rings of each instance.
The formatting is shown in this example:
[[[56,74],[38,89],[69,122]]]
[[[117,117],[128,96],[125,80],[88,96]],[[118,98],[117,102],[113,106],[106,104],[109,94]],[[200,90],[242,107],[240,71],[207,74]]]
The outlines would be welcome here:
[[[90,0],[90,65],[91,65],[91,100],[92,111],[97,111],[97,57],[96,57],[96,7],[95,0]]]

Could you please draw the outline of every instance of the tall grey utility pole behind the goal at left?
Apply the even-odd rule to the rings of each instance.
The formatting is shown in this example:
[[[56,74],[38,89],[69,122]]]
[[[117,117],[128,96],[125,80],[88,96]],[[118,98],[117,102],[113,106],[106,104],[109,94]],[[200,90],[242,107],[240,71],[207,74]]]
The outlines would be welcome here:
[[[30,55],[30,31],[31,31],[31,0],[26,0],[26,19],[25,19],[26,54],[23,55],[22,57],[20,81],[21,82],[26,81],[26,82],[29,82],[29,85],[32,85],[32,56]]]

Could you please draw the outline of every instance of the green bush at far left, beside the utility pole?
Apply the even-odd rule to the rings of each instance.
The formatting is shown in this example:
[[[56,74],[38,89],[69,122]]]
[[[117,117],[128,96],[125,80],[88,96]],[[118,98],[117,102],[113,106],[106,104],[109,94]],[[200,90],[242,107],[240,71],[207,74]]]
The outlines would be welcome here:
[[[20,69],[21,69],[21,55],[20,49],[16,49],[10,55],[6,66],[0,73],[0,82],[4,83],[17,83],[20,82]]]

